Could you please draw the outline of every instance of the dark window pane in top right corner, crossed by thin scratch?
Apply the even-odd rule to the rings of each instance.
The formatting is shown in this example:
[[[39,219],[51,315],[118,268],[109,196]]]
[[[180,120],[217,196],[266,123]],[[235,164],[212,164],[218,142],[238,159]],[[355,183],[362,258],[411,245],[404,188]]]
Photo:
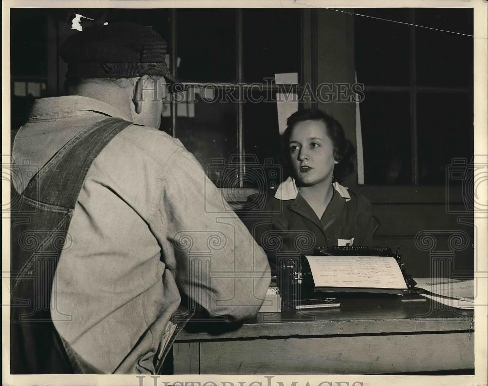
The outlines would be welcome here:
[[[416,10],[416,23],[430,28],[473,34],[472,9]],[[417,83],[470,87],[473,81],[473,38],[416,28]]]

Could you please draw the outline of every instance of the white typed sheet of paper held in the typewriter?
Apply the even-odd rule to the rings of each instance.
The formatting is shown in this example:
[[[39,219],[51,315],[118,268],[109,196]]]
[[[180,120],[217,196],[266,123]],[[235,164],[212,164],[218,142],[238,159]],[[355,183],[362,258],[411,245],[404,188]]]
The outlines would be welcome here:
[[[391,256],[306,256],[316,287],[407,289]]]

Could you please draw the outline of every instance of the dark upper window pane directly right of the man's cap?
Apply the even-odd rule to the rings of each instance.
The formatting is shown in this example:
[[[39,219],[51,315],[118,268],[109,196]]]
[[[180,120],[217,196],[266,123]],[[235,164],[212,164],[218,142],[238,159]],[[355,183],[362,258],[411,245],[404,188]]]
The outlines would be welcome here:
[[[177,16],[178,78],[235,81],[236,11],[178,11]]]

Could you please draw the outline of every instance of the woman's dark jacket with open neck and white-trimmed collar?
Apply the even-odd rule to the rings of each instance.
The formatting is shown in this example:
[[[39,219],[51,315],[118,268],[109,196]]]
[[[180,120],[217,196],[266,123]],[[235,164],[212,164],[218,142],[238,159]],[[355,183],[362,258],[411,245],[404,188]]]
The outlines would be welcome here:
[[[249,196],[242,219],[264,248],[273,271],[278,259],[311,254],[320,246],[372,245],[379,222],[371,213],[371,203],[338,187],[321,219],[299,193],[291,199],[275,197],[277,190]],[[289,191],[284,198],[289,198]]]

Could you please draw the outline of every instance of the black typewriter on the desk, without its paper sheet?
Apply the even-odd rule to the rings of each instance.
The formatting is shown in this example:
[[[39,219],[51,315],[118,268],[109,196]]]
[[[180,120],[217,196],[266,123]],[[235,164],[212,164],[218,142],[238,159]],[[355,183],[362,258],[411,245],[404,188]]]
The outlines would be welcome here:
[[[397,251],[398,252],[398,251]],[[411,275],[406,272],[405,264],[402,261],[402,256],[398,253],[393,253],[391,248],[376,247],[376,246],[324,246],[316,248],[313,255],[316,256],[388,256],[393,257],[400,267],[403,278],[405,280],[406,289],[390,291],[382,291],[382,293],[374,293],[376,291],[364,291],[362,289],[347,290],[344,293],[342,289],[338,289],[337,293],[322,292],[314,286],[310,265],[305,255],[300,256],[299,259],[288,258],[278,262],[278,285],[282,297],[283,310],[296,310],[301,308],[301,305],[308,305],[321,302],[329,302],[330,298],[339,295],[339,297],[387,297],[393,294],[396,295],[418,295],[422,290],[414,288],[417,284]],[[365,293],[369,292],[369,293]]]

